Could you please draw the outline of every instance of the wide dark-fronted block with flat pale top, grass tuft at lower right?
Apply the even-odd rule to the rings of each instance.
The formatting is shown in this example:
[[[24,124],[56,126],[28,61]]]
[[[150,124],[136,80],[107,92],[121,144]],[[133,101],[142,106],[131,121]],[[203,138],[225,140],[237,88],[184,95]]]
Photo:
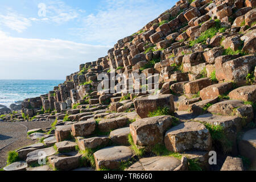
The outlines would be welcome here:
[[[136,113],[141,118],[147,118],[150,112],[157,110],[159,107],[167,107],[168,113],[170,114],[175,111],[174,98],[171,94],[136,98],[134,100],[134,106]]]

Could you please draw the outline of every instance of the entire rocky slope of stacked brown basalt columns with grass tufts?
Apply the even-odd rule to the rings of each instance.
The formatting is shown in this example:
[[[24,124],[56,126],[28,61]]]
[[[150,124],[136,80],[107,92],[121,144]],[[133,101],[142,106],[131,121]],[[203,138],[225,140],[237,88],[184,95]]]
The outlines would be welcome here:
[[[53,91],[24,100],[3,121],[55,122],[29,131],[40,142],[5,169],[255,169],[255,7],[180,0]]]

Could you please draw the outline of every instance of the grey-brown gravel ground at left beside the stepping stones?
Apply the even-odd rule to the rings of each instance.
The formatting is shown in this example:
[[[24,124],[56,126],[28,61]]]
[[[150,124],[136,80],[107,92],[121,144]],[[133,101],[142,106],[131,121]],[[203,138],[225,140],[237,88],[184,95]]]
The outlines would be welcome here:
[[[0,122],[0,168],[6,166],[9,151],[35,143],[27,138],[27,130],[47,129],[52,122]]]

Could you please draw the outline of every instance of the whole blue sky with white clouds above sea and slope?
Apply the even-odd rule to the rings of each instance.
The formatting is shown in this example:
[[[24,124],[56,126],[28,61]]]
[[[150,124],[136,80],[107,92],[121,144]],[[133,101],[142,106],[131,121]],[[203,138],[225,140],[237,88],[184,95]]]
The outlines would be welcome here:
[[[64,80],[175,2],[0,0],[0,80]]]

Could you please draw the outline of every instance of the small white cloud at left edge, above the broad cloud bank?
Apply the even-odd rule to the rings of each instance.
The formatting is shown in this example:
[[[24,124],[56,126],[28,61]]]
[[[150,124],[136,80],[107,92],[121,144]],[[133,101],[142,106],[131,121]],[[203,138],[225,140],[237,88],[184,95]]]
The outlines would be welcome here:
[[[0,14],[0,24],[21,33],[31,26],[31,21],[23,15],[8,10],[5,15]]]

